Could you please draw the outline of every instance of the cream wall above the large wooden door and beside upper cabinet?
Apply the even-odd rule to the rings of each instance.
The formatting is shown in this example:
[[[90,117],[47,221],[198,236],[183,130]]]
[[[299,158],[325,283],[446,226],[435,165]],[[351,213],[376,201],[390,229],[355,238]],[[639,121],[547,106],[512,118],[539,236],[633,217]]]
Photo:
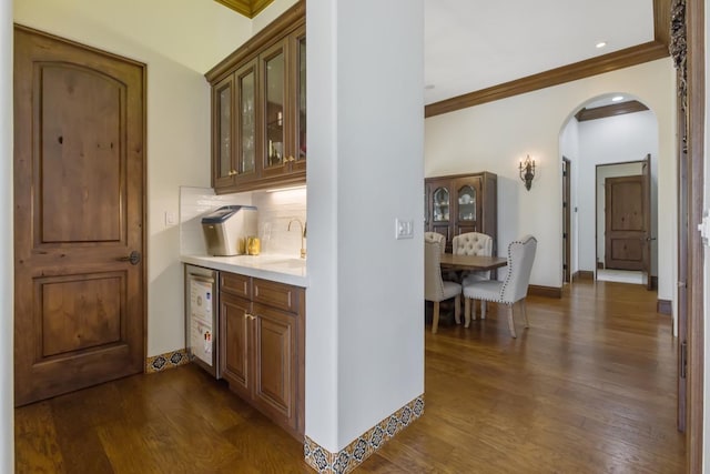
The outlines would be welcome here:
[[[191,27],[181,36],[189,39],[190,48],[203,51],[213,48],[219,39],[227,43],[226,49],[231,52],[251,30],[251,22],[244,23],[243,17],[231,14],[229,9],[221,7],[219,10],[222,20],[215,20],[202,10],[202,6],[212,9],[213,4],[217,3],[181,0],[178,8],[169,0],[21,0],[14,6],[18,23],[148,65],[149,356],[184,346],[179,228],[166,226],[164,213],[178,215],[181,184],[210,185],[210,87],[203,71],[184,65],[190,62],[185,58],[173,59],[178,58],[178,51],[164,43],[180,33],[175,31],[175,24],[190,23],[190,20]],[[230,18],[232,22],[224,21]],[[214,21],[206,21],[210,19]],[[244,24],[245,32],[236,34]],[[231,46],[229,41],[232,41]],[[158,52],[159,48],[168,52]]]

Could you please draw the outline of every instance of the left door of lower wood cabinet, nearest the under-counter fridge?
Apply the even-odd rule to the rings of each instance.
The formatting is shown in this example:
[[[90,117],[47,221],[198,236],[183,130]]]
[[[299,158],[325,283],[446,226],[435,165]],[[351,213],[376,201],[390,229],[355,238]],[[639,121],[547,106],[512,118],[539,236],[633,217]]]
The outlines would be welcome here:
[[[222,376],[230,389],[251,399],[250,325],[251,302],[222,292],[220,296],[220,345]]]

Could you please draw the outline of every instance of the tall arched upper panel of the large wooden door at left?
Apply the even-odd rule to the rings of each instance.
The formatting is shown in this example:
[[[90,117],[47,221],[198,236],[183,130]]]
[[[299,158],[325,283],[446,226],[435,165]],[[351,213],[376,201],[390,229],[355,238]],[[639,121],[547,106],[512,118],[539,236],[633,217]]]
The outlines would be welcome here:
[[[115,167],[125,85],[89,68],[51,62],[36,64],[34,72],[42,98],[33,118],[42,138],[34,175],[41,243],[120,241],[125,172]]]

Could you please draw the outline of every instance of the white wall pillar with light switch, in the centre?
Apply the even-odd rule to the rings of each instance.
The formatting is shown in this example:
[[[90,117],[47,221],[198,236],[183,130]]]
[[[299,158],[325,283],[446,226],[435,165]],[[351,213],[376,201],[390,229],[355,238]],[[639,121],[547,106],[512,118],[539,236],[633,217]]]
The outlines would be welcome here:
[[[306,17],[306,435],[336,452],[424,393],[424,3],[308,0]]]

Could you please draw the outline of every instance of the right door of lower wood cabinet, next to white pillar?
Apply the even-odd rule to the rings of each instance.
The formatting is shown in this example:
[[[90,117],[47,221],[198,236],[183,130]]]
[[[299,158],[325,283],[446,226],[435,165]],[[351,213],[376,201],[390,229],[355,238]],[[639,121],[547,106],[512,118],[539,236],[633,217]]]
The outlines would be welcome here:
[[[296,316],[254,303],[254,389],[261,410],[281,424],[296,428],[297,342]]]

